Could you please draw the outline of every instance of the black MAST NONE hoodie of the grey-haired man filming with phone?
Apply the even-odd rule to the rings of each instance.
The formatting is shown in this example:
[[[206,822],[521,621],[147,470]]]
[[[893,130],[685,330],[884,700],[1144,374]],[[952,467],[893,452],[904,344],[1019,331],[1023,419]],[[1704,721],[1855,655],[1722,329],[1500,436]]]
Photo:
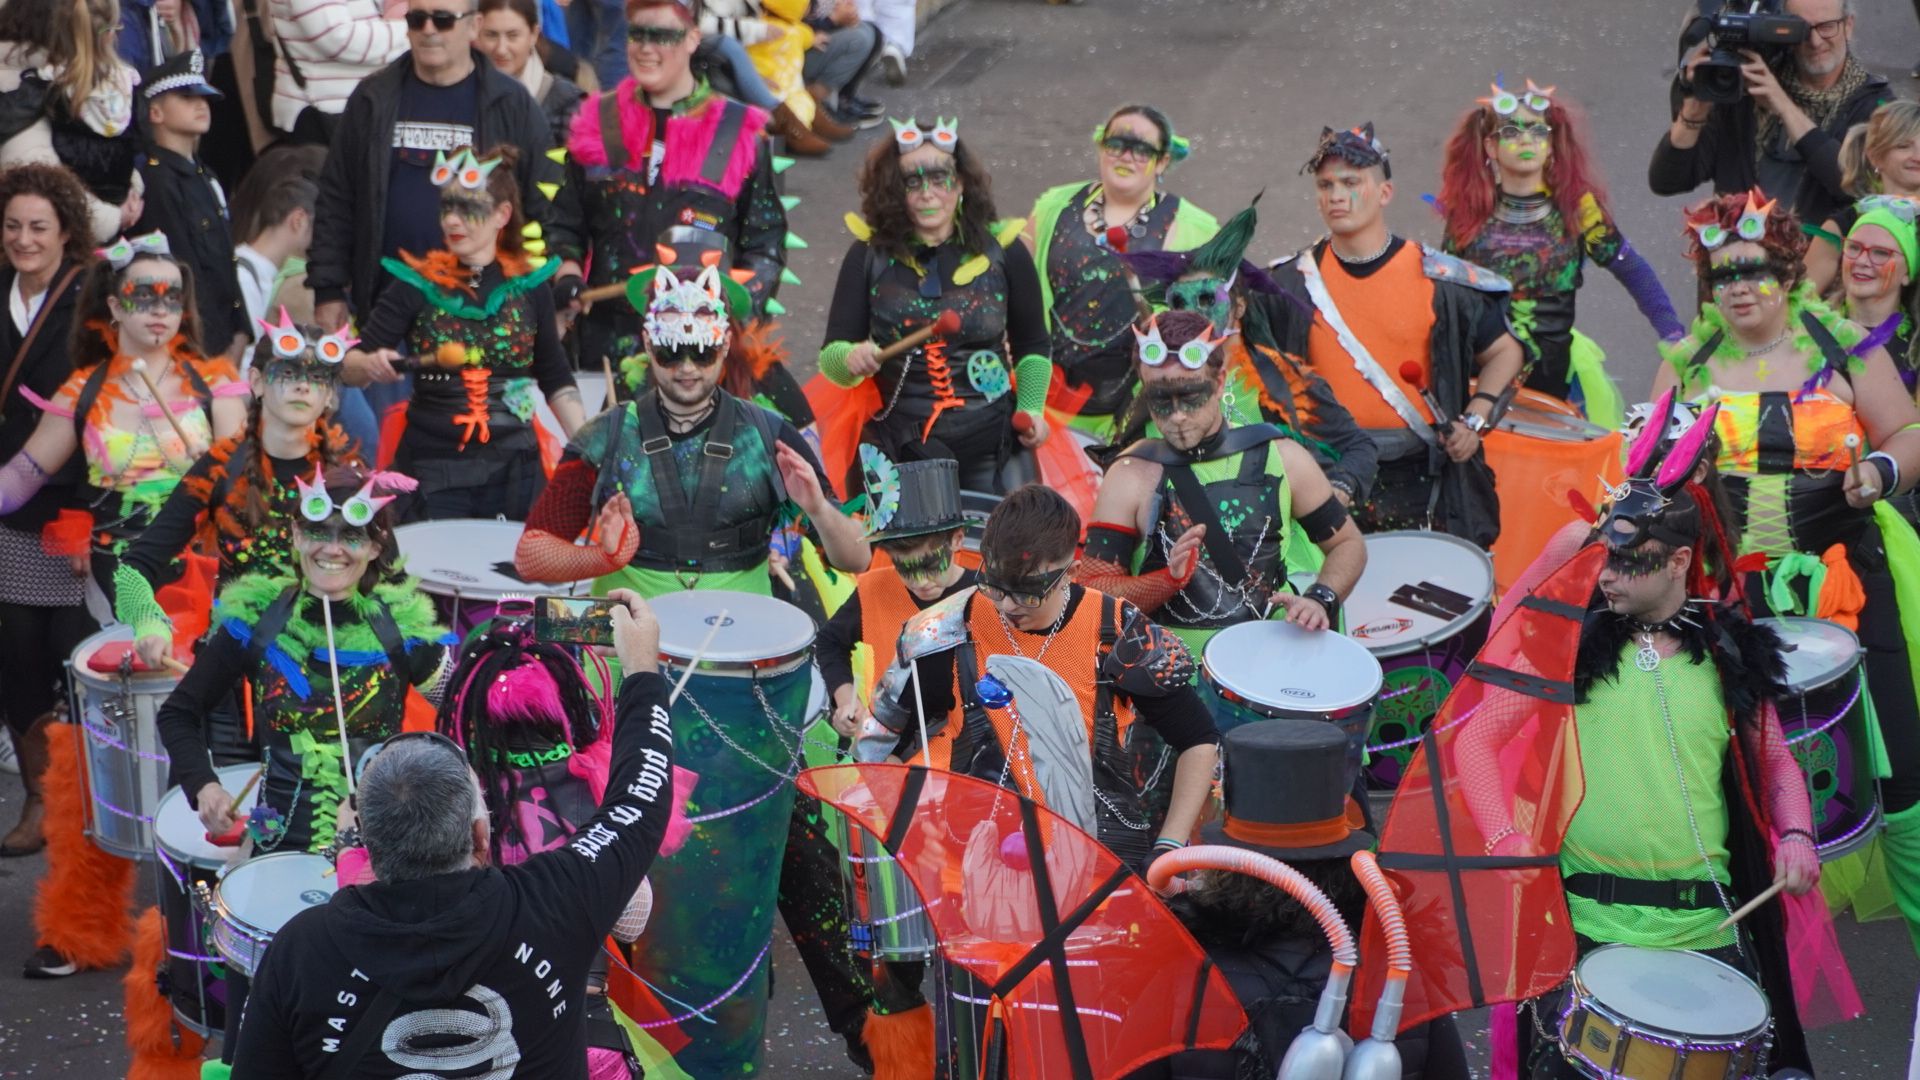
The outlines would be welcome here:
[[[666,692],[662,675],[626,676],[607,796],[566,847],[516,867],[346,888],[288,920],[253,978],[234,1076],[319,1076],[363,1042],[340,1076],[440,1074],[463,1047],[501,1074],[586,1080],[588,967],[666,834]],[[392,1011],[382,994],[397,997]],[[388,1019],[363,1032],[374,1009]]]

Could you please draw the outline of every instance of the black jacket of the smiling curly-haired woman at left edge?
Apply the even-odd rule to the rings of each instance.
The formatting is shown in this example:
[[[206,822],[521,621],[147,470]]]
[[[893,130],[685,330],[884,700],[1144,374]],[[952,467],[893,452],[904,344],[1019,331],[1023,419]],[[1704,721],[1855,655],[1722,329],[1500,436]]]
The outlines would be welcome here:
[[[61,275],[67,273],[71,263],[61,263],[54,271],[54,281],[48,284],[60,284]],[[0,380],[6,379],[10,367],[13,367],[13,357],[19,356],[19,344],[27,336],[23,331],[13,329],[13,317],[6,313],[8,296],[13,292],[13,269],[0,269]],[[25,386],[42,398],[52,398],[60,388],[73,377],[73,306],[81,298],[81,282],[86,281],[86,273],[81,271],[73,275],[67,288],[46,298],[46,323],[40,327],[40,334],[33,338],[33,348],[21,359],[19,375],[13,379],[13,388],[8,390],[6,400],[0,402],[0,461],[12,461],[23,446],[27,446],[27,436],[40,423],[40,407],[29,402],[19,388]],[[31,323],[29,323],[31,327]],[[86,455],[73,454],[67,463],[61,465],[52,477],[48,477],[46,486],[40,488],[36,496],[27,500],[27,505],[15,509],[13,513],[0,517],[0,525],[8,528],[17,528],[21,532],[38,532],[42,525],[52,521],[63,507],[73,505],[77,492],[75,486],[86,477]]]

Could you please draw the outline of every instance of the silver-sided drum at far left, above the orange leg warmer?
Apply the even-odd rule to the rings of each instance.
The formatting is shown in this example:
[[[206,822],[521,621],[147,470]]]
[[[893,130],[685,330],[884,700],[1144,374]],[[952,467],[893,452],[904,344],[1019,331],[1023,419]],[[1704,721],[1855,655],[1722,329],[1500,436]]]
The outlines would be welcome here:
[[[86,761],[86,834],[123,859],[154,857],[154,811],[167,794],[167,748],[154,717],[179,686],[165,671],[121,669],[132,659],[132,628],[111,626],[81,642],[73,673],[73,715]]]

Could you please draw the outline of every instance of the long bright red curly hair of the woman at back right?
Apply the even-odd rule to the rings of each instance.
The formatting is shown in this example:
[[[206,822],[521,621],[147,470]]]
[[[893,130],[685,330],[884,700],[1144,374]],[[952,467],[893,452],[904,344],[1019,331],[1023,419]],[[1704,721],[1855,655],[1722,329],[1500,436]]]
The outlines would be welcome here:
[[[1586,150],[1586,117],[1572,106],[1548,98],[1544,119],[1553,129],[1548,156],[1548,190],[1561,211],[1567,236],[1580,234],[1580,198],[1594,196],[1607,209],[1607,186]],[[1532,111],[1532,110],[1528,110]],[[1507,117],[1488,106],[1476,106],[1459,117],[1446,142],[1440,165],[1440,209],[1446,215],[1446,236],[1453,248],[1465,248],[1494,217],[1494,169],[1486,160],[1486,138],[1500,131]]]

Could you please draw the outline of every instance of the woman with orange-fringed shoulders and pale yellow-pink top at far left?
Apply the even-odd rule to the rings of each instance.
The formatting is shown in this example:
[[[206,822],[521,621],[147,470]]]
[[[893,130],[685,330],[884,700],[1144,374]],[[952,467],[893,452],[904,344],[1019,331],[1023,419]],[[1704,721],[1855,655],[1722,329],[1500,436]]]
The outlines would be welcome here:
[[[194,461],[246,423],[248,384],[230,363],[200,352],[192,273],[167,252],[165,236],[115,240],[100,256],[73,313],[73,375],[52,398],[19,388],[44,411],[0,467],[0,515],[83,455],[92,573],[111,596],[125,546]]]

